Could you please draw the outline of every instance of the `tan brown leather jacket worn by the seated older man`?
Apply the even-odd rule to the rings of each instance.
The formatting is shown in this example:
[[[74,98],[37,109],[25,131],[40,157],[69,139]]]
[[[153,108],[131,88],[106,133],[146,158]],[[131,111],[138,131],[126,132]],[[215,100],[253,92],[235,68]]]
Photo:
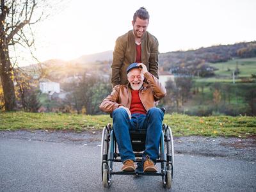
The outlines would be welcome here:
[[[166,95],[166,90],[159,83],[158,79],[149,72],[145,73],[147,83],[143,83],[139,92],[140,100],[144,108],[148,111],[156,106],[156,101]],[[100,109],[106,113],[112,113],[118,106],[124,106],[130,109],[132,100],[131,88],[129,84],[118,84],[113,88],[113,91],[100,104]]]

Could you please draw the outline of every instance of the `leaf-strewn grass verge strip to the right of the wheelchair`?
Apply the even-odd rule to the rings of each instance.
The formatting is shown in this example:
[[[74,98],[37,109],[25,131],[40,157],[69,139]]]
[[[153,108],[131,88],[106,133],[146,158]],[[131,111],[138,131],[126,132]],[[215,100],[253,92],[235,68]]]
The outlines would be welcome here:
[[[256,135],[256,118],[253,116],[188,116],[166,115],[164,122],[175,136],[235,136],[246,138]]]

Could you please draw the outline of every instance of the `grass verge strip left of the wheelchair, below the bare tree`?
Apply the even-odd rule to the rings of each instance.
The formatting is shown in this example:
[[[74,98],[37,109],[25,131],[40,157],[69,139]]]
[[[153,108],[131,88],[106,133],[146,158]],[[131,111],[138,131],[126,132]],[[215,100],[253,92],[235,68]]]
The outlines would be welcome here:
[[[61,129],[83,131],[101,129],[108,124],[108,115],[76,115],[68,113],[0,113],[0,130]]]

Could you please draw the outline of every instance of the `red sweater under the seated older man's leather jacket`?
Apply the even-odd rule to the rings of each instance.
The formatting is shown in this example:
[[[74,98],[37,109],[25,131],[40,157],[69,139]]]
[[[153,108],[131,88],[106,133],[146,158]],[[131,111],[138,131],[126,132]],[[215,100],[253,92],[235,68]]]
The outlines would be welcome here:
[[[140,97],[139,97],[139,90],[132,90],[132,102],[130,107],[131,113],[141,113],[146,114],[147,110],[144,108]]]

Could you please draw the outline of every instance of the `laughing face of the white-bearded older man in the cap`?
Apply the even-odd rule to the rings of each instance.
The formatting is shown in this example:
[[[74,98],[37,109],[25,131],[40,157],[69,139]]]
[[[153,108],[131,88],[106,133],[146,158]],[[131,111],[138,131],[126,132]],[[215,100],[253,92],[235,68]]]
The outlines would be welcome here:
[[[127,78],[129,83],[131,84],[132,90],[140,90],[144,80],[144,76],[141,73],[140,68],[133,68],[127,74]]]

